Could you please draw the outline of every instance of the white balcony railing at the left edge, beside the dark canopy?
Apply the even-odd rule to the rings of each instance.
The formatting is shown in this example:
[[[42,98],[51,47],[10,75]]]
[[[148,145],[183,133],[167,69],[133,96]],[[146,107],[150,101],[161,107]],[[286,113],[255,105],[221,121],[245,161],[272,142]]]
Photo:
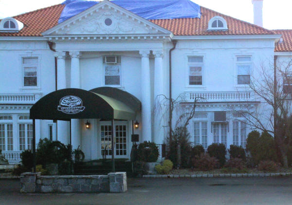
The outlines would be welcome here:
[[[40,93],[0,94],[1,104],[34,104],[41,97]]]

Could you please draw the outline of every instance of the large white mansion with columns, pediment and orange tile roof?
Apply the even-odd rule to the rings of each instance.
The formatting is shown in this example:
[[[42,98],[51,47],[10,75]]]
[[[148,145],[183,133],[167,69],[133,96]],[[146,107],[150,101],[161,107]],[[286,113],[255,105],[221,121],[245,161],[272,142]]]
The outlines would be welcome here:
[[[185,109],[195,97],[204,98],[189,124],[195,145],[245,146],[250,128],[228,108],[259,106],[260,100],[247,89],[251,75],[274,56],[292,55],[292,31],[262,28],[263,0],[253,0],[257,25],[189,0],[181,3],[191,7],[188,11],[197,5],[197,17],[177,17],[184,14],[178,6],[172,18],[172,11],[165,19],[145,18],[117,3],[123,0],[104,0],[60,21],[66,7],[79,1],[0,21],[0,149],[10,162],[18,162],[19,153],[31,149],[32,105],[65,88],[114,87],[141,101],[136,120],[116,121],[116,158],[130,157],[133,132],[140,142],[163,144],[168,120],[161,120],[162,113],[154,109],[160,94],[176,98],[184,93]],[[139,128],[132,129],[136,121]],[[36,138],[69,144],[71,129],[73,148],[80,146],[87,160],[100,159],[110,155],[104,151],[111,148],[110,125],[103,119],[80,119],[70,128],[66,121],[36,120]]]

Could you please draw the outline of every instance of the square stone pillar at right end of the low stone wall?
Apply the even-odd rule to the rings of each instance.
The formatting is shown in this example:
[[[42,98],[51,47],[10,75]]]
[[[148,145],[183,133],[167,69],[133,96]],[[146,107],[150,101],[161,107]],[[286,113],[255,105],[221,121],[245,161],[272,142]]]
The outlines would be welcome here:
[[[126,192],[127,174],[126,172],[110,172],[110,192]]]

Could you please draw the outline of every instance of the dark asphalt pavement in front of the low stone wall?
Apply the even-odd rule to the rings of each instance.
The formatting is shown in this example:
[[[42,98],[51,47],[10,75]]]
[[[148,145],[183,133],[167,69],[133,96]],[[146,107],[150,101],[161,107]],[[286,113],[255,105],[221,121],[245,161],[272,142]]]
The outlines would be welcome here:
[[[129,178],[126,193],[20,194],[0,180],[0,205],[292,205],[292,176]]]

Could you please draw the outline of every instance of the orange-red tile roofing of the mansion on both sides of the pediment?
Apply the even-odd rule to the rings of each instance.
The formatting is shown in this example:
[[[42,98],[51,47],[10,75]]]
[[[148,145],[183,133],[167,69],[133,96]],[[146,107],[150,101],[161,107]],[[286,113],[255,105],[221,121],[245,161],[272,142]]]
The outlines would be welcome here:
[[[40,37],[41,33],[56,26],[65,5],[57,4],[15,16],[24,24],[19,32],[0,33],[0,36]],[[208,22],[215,16],[223,17],[228,26],[227,31],[208,31]],[[201,6],[201,19],[156,19],[149,20],[178,36],[210,35],[273,35],[283,34],[283,42],[276,44],[275,51],[292,51],[292,30],[268,30],[239,19],[220,14]]]

